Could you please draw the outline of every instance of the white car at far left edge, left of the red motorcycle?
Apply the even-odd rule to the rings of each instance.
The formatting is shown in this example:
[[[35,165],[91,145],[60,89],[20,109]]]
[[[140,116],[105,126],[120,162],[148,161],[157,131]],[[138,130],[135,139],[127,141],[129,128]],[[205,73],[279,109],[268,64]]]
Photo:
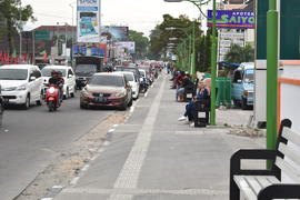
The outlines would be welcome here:
[[[10,64],[0,67],[1,92],[9,104],[28,109],[33,102],[42,103],[42,77],[37,66]]]

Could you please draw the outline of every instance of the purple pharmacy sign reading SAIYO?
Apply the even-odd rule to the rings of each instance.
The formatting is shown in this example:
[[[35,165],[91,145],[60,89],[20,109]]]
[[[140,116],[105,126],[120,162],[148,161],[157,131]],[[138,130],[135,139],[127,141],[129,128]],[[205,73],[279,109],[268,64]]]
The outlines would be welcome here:
[[[212,27],[212,10],[208,10],[208,27]],[[256,14],[250,11],[217,10],[219,29],[254,29]]]

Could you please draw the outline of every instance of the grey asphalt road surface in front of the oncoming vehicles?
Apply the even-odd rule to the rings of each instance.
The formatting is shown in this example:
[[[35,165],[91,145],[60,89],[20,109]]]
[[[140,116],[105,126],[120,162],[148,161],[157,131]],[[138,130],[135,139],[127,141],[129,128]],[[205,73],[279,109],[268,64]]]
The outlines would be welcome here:
[[[58,112],[46,106],[9,108],[0,129],[0,196],[10,200],[77,138],[114,110],[80,110],[79,98],[66,100]]]

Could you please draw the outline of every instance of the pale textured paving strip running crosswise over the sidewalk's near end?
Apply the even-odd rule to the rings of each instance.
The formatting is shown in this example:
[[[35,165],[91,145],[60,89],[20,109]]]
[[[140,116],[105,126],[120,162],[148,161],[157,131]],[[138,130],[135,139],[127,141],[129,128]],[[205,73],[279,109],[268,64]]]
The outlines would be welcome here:
[[[184,196],[222,196],[228,194],[227,190],[214,189],[92,189],[92,188],[68,188],[62,193],[88,193],[88,194],[113,194],[117,196],[140,196],[140,194],[184,194]]]

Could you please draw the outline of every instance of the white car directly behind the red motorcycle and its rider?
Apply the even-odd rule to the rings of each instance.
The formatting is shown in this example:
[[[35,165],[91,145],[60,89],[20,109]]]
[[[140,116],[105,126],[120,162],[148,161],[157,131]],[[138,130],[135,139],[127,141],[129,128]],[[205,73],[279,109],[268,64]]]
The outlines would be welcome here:
[[[73,69],[69,66],[47,66],[41,70],[43,83],[49,82],[49,79],[51,78],[52,71],[61,71],[61,73],[62,73],[62,77],[64,79],[63,98],[68,99],[70,97],[74,97],[76,76],[74,76]]]

